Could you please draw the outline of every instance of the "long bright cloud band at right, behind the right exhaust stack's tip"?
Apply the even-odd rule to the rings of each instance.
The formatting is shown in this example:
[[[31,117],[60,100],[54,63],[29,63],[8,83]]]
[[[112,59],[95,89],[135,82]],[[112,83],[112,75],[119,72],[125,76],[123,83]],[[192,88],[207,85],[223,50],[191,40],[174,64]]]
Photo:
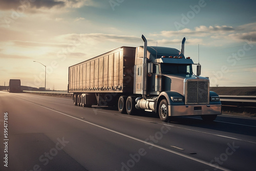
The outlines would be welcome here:
[[[215,40],[225,41],[256,41],[256,23],[249,23],[238,26],[236,28],[232,26],[199,26],[194,29],[182,29],[179,31],[161,31],[160,33],[150,34],[151,36],[162,36],[162,37],[178,37],[178,36],[189,36],[188,43],[202,44],[202,39],[198,37],[209,37]],[[195,37],[195,38],[194,38]],[[177,43],[177,39],[166,40],[162,39],[159,42],[163,44]],[[212,44],[217,45],[216,41],[212,41]],[[211,45],[212,45],[211,44]],[[210,45],[210,44],[208,44]],[[221,46],[221,44],[219,44]]]

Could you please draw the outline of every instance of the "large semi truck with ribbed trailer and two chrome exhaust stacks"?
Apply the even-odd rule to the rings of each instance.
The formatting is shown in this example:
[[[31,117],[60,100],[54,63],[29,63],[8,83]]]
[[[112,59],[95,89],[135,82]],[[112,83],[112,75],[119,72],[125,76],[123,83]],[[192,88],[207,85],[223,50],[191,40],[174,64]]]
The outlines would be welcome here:
[[[209,78],[192,71],[194,62],[174,48],[120,47],[69,67],[68,92],[75,105],[118,106],[120,113],[155,112],[167,122],[172,116],[201,116],[215,120],[221,114],[218,94],[209,91]]]

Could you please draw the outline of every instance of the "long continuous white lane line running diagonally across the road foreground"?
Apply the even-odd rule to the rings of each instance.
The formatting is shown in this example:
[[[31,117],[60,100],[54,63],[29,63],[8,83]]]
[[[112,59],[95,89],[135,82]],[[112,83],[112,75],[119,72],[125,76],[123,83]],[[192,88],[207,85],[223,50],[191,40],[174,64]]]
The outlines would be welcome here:
[[[23,99],[23,100],[24,100],[24,99]],[[31,102],[31,101],[28,101],[28,100],[25,100],[25,101],[30,102],[30,103],[32,103],[32,104],[36,104],[36,103]],[[224,168],[224,167],[222,167],[222,166],[215,166],[215,165],[212,165],[212,164],[210,164],[209,162],[206,162],[206,161],[204,161],[204,160],[197,159],[197,158],[191,157],[191,156],[187,156],[187,155],[185,155],[185,154],[182,154],[182,153],[173,151],[172,149],[168,149],[168,148],[165,148],[165,147],[163,147],[163,146],[160,146],[160,145],[157,145],[157,144],[154,144],[154,143],[146,142],[146,141],[141,140],[141,139],[139,139],[139,138],[136,138],[136,137],[133,137],[133,136],[130,136],[130,135],[126,135],[126,134],[123,134],[123,133],[120,133],[120,132],[117,132],[117,131],[108,129],[107,127],[100,126],[100,125],[98,125],[98,124],[95,124],[95,123],[92,123],[92,122],[89,122],[89,121],[86,121],[86,120],[82,120],[82,119],[76,118],[76,117],[74,117],[74,116],[70,116],[70,115],[68,115],[68,114],[65,114],[65,113],[62,113],[62,112],[59,112],[59,111],[56,111],[56,110],[47,108],[47,107],[45,107],[45,106],[42,106],[42,105],[40,105],[40,104],[36,104],[36,105],[41,106],[42,108],[48,109],[48,110],[50,110],[50,111],[53,111],[53,112],[56,112],[56,113],[59,113],[59,114],[62,114],[62,115],[71,117],[71,118],[73,118],[73,119],[77,119],[77,120],[79,120],[79,121],[86,122],[86,123],[88,123],[88,124],[91,124],[91,125],[100,127],[100,128],[103,129],[103,130],[107,130],[107,131],[110,131],[110,132],[119,134],[119,135],[121,135],[121,136],[124,136],[124,137],[130,138],[130,139],[133,139],[133,140],[142,142],[142,143],[144,143],[144,144],[152,145],[152,146],[154,146],[154,147],[157,147],[157,148],[159,148],[159,149],[162,149],[163,151],[170,152],[170,153],[176,154],[176,155],[178,155],[178,156],[182,156],[182,157],[184,157],[184,158],[187,158],[187,159],[190,159],[190,160],[193,160],[193,161],[196,161],[196,162],[199,162],[199,163],[208,165],[208,166],[210,166],[210,167],[215,167],[215,168],[221,169],[221,170],[229,170],[229,169]]]

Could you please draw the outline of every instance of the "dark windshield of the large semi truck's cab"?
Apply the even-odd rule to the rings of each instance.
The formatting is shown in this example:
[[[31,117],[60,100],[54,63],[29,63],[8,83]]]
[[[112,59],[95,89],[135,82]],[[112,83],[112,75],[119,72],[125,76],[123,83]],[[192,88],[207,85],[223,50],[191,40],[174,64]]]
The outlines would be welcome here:
[[[193,74],[190,64],[161,63],[162,74]]]

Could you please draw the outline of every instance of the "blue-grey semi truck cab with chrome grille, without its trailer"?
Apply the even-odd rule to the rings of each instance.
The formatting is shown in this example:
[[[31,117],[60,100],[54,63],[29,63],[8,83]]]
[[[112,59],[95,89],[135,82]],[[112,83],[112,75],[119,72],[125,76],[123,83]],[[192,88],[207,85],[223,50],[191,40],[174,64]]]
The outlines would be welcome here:
[[[194,62],[184,56],[185,41],[182,42],[181,51],[144,45],[145,51],[144,47],[137,47],[134,94],[142,94],[142,97],[136,99],[136,108],[156,112],[162,121],[171,116],[189,115],[214,120],[221,114],[220,98],[209,91],[208,77],[200,76],[201,65],[197,74],[193,73]]]

